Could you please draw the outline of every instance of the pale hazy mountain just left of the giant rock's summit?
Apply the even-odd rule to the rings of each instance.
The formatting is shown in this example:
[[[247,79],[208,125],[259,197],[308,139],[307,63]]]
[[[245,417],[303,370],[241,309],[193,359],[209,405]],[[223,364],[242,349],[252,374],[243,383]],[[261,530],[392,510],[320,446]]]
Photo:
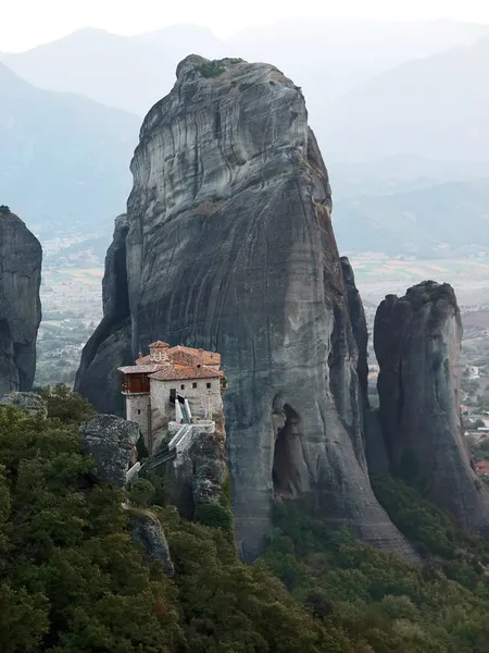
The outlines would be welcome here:
[[[82,94],[138,115],[168,93],[176,66],[149,45],[91,27],[4,63],[40,88]]]

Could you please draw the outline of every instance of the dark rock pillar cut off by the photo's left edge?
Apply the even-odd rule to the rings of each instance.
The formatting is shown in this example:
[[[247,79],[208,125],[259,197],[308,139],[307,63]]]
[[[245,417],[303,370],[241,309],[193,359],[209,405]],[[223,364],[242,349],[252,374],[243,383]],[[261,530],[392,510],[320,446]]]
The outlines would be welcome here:
[[[33,387],[41,262],[39,241],[24,222],[0,212],[0,397]]]

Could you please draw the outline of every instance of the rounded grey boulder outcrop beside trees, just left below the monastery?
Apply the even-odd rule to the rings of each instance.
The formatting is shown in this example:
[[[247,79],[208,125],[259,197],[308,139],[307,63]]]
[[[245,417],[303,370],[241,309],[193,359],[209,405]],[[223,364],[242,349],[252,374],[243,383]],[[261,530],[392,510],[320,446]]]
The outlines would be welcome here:
[[[96,476],[102,481],[126,484],[126,473],[136,463],[138,426],[113,415],[98,415],[80,427],[84,449],[96,461]]]

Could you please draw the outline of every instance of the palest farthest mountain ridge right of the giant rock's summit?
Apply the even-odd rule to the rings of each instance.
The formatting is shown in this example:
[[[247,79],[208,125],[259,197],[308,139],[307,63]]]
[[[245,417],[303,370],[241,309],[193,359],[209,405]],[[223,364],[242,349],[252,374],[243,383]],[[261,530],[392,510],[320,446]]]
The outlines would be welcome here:
[[[233,57],[267,61],[302,87],[310,122],[327,155],[325,110],[342,94],[413,59],[489,35],[489,25],[455,21],[283,21],[248,27],[227,45]],[[330,125],[331,131],[335,125]]]

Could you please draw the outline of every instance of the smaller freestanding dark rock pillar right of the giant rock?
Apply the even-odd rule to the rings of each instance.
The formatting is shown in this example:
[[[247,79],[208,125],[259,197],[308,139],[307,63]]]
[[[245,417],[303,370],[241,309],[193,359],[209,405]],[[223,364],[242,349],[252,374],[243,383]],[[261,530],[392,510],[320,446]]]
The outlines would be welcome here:
[[[390,464],[426,479],[459,525],[489,534],[489,493],[471,466],[460,411],[462,322],[449,284],[388,295],[374,331],[380,422]]]

